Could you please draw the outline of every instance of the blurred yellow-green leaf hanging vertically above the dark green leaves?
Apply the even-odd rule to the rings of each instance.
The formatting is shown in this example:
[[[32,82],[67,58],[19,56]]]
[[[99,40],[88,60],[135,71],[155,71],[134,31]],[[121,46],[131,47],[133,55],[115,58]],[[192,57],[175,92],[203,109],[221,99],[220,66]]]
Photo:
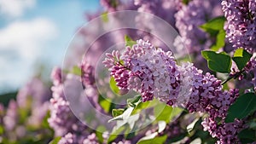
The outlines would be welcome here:
[[[212,45],[211,49],[213,51],[218,51],[218,49],[223,48],[225,45],[225,35],[226,33],[224,32],[224,30],[220,30],[218,32],[218,35],[216,37],[216,43],[214,45]]]

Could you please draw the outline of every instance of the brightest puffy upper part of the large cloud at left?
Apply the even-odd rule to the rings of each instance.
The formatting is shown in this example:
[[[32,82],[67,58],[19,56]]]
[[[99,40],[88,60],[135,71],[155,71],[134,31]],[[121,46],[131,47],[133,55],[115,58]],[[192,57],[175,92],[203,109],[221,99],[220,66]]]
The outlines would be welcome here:
[[[44,43],[56,36],[55,25],[47,19],[16,21],[0,29],[0,50],[15,50],[22,58],[37,57]]]

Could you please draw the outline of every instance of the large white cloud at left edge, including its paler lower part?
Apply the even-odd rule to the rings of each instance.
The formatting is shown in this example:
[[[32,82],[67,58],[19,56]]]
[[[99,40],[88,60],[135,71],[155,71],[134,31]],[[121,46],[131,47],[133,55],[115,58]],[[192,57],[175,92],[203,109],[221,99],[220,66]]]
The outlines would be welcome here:
[[[43,18],[15,21],[0,29],[0,88],[7,83],[14,87],[24,83],[32,74],[32,65],[56,36],[54,23]]]

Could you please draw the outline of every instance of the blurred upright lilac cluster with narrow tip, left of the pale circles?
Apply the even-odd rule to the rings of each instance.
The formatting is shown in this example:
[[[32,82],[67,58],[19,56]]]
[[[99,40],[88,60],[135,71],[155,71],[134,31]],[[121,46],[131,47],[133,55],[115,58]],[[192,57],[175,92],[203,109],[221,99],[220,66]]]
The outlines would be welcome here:
[[[55,135],[62,136],[68,132],[83,132],[86,128],[69,108],[69,102],[64,95],[64,84],[61,78],[61,69],[55,68],[51,74],[53,80],[53,97],[50,99],[49,126],[55,130]]]

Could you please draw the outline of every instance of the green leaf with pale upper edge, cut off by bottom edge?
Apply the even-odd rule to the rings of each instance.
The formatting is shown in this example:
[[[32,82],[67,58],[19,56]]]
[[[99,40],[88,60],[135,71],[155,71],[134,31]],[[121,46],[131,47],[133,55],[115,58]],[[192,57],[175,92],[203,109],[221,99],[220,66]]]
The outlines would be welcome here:
[[[143,137],[140,141],[137,142],[137,144],[148,144],[148,143],[154,143],[154,144],[163,144],[166,142],[166,139],[167,139],[167,135],[163,135],[163,136],[157,136],[157,133],[153,133],[153,135],[150,135],[150,136],[154,136],[153,138],[152,137]]]

